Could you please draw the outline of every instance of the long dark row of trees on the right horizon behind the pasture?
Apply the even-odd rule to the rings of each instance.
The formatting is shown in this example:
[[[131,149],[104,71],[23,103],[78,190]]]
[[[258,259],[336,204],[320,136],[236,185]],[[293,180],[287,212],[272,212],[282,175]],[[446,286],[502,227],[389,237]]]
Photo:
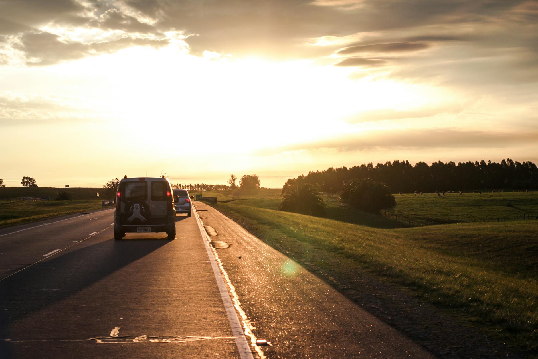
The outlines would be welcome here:
[[[297,178],[289,178],[286,185],[310,183],[323,192],[336,193],[353,180],[370,179],[385,183],[392,193],[414,191],[459,191],[489,189],[536,189],[538,188],[538,168],[536,164],[512,161],[510,158],[500,163],[484,160],[478,162],[437,161],[428,165],[409,161],[372,163],[360,166],[330,167],[323,171],[308,172]]]

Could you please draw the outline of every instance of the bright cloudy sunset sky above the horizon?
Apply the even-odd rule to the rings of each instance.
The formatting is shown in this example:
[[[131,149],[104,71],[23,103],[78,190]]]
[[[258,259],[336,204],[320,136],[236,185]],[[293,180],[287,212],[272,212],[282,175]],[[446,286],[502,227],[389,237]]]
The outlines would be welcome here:
[[[538,2],[3,0],[0,178],[538,161]]]

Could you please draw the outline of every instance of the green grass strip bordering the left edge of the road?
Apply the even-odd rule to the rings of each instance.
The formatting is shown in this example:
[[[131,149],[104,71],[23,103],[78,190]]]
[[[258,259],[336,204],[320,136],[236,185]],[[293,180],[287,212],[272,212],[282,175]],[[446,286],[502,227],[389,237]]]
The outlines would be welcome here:
[[[0,228],[96,209],[101,209],[101,201],[96,199],[24,201],[0,204]]]

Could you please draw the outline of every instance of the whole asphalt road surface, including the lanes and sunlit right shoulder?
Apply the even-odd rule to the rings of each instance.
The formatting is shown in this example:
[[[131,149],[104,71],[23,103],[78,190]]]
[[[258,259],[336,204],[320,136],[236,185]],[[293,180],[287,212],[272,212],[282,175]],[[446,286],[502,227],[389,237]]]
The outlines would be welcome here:
[[[113,210],[0,230],[0,357],[432,357],[195,205],[174,240],[114,240]]]

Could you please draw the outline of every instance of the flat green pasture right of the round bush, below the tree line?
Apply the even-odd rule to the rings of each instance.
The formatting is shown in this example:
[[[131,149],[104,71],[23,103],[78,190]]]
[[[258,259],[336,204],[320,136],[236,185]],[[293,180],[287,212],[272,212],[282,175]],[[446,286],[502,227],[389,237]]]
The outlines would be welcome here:
[[[473,194],[417,195],[395,194],[396,207],[392,212],[410,216],[420,225],[493,220],[538,215],[538,192],[495,192]]]

